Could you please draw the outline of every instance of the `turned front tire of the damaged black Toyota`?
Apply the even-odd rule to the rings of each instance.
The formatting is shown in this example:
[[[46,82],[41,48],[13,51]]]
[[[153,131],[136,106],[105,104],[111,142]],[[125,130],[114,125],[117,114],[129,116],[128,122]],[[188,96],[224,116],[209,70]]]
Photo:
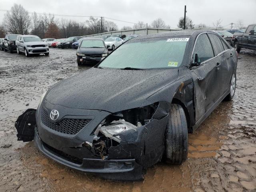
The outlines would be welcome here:
[[[182,106],[171,104],[165,133],[165,155],[169,164],[182,164],[188,158],[188,126]]]

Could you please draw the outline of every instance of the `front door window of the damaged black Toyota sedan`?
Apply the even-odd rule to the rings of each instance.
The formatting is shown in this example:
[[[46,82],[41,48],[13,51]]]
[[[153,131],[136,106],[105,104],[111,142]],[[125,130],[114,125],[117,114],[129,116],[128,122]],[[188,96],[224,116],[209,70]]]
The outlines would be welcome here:
[[[208,36],[204,33],[198,36],[193,52],[193,62],[195,61],[195,55],[198,55],[198,62],[204,62],[214,57],[212,45]]]

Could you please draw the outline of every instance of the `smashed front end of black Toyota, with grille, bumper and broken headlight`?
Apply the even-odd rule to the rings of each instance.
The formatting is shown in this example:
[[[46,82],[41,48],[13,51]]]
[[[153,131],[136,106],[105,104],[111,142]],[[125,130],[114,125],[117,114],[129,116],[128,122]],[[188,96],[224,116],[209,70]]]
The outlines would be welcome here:
[[[59,112],[56,120],[50,117],[52,110]],[[143,179],[143,170],[164,153],[166,102],[110,113],[43,100],[35,117],[34,141],[40,151],[60,164],[103,178]]]

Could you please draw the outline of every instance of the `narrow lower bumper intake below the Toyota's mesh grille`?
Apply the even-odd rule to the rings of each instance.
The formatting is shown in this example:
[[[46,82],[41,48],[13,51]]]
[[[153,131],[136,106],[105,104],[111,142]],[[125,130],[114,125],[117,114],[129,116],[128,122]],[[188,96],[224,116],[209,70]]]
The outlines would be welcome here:
[[[50,145],[46,144],[45,142],[43,142],[43,145],[44,145],[44,148],[46,148],[49,152],[52,152],[53,154],[59,156],[62,159],[65,159],[69,162],[79,164],[79,165],[81,165],[82,162],[83,162],[83,159],[74,157],[74,156],[69,155],[69,154],[66,154],[66,153],[64,153],[64,152],[62,152],[58,149],[55,149],[55,148],[51,147]]]

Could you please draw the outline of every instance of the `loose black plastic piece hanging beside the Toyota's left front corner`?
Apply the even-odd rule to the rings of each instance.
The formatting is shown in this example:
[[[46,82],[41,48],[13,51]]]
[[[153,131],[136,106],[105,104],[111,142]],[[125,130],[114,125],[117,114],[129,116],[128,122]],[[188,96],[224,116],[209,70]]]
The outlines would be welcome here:
[[[15,128],[18,132],[18,141],[28,142],[34,139],[36,125],[36,109],[28,109],[18,117]]]

